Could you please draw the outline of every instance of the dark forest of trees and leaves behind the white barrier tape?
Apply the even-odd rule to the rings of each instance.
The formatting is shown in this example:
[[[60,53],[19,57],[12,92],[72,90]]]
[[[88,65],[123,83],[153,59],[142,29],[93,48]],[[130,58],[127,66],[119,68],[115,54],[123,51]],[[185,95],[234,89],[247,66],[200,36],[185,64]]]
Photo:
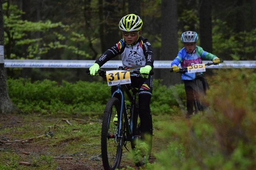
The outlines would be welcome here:
[[[119,20],[129,13],[143,20],[142,36],[155,60],[173,60],[180,35],[199,34],[198,45],[223,60],[255,60],[254,0],[7,0],[3,2],[5,59],[96,60],[121,38]],[[120,56],[114,58],[120,60]],[[155,69],[163,84],[180,75]],[[11,78],[91,81],[85,69],[7,68]],[[96,78],[97,79],[97,78]]]

